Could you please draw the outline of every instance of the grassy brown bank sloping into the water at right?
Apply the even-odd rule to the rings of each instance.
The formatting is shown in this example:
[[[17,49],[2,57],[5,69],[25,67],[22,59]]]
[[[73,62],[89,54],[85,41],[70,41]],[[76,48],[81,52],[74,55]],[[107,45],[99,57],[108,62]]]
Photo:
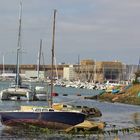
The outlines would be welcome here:
[[[140,105],[140,97],[138,97],[138,93],[140,93],[140,84],[135,84],[121,94],[104,93],[102,95],[99,95],[97,99],[108,102],[120,102],[125,104]]]

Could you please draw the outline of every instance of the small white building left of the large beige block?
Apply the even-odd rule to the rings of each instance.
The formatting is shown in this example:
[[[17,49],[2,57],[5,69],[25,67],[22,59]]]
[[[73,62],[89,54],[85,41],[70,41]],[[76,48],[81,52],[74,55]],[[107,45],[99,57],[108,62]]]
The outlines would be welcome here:
[[[70,65],[69,67],[64,67],[63,70],[63,79],[65,80],[75,80],[76,79],[76,72],[73,65]]]

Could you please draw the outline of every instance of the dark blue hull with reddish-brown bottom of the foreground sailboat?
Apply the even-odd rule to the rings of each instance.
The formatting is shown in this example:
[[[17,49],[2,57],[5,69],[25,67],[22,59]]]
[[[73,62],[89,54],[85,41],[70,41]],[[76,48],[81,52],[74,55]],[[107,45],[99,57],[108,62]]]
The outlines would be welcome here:
[[[31,124],[47,128],[68,128],[84,121],[85,114],[77,112],[1,112],[1,122],[6,126]]]

